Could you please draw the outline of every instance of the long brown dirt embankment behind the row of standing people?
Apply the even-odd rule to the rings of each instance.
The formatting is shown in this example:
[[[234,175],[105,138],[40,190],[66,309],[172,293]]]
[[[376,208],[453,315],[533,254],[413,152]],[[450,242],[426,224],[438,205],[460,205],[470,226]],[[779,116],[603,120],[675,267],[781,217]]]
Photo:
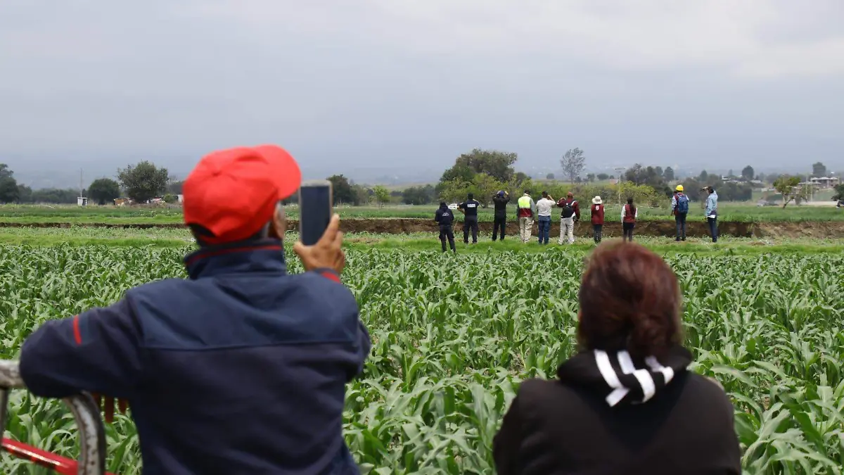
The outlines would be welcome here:
[[[299,226],[298,221],[288,221],[287,227],[293,231]],[[146,223],[146,224],[115,224],[109,222],[100,223],[17,223],[0,222],[0,227],[111,227],[122,229],[150,229],[150,228],[172,228],[179,229],[184,226],[181,223]],[[370,232],[376,234],[408,234],[412,232],[437,232],[438,227],[434,221],[422,219],[347,219],[341,222],[341,228],[347,233]],[[463,231],[463,223],[456,222],[454,231]],[[491,222],[479,223],[479,231],[484,234],[492,233]],[[533,224],[533,234],[536,235],[537,225]],[[676,233],[674,221],[639,221],[636,223],[636,234],[640,236],[663,236],[672,237]],[[737,238],[844,238],[844,221],[805,221],[805,222],[737,222],[723,221],[718,223],[718,232],[722,236],[733,236]],[[516,235],[518,225],[515,221],[507,223],[507,234]],[[560,235],[560,223],[551,224],[551,235]],[[583,221],[576,226],[576,235],[581,237],[592,236],[592,225]],[[621,236],[621,223],[610,222],[603,225],[603,235],[607,237]],[[690,238],[700,238],[709,235],[709,228],[706,222],[689,221],[686,223],[686,235]]]

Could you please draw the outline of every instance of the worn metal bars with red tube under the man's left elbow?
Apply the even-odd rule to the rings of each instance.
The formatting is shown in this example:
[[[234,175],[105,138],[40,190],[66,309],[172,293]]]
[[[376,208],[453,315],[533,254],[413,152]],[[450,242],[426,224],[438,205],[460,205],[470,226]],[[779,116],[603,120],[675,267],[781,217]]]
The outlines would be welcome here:
[[[17,361],[0,360],[0,429],[5,432],[8,417],[8,391],[25,389]],[[2,448],[13,456],[47,467],[62,475],[107,475],[106,433],[100,407],[88,393],[62,401],[68,405],[79,430],[79,460],[57,456],[24,443],[3,438]]]

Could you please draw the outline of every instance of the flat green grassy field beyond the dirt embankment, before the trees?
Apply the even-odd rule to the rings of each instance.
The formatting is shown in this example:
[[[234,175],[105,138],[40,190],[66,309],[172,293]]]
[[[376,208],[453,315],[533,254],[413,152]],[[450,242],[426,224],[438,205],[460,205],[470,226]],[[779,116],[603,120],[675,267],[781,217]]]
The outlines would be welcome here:
[[[582,212],[588,216],[587,204],[582,205]],[[436,206],[340,206],[338,213],[345,219],[367,218],[420,218],[433,219]],[[835,207],[788,206],[782,209],[778,206],[759,207],[749,203],[721,203],[718,207],[720,221],[844,221],[844,210]],[[286,213],[290,219],[297,219],[299,210],[295,205],[288,206]],[[515,216],[516,210],[511,207],[508,216]],[[612,220],[620,216],[618,205],[608,205],[607,217]],[[559,213],[553,219],[559,220]],[[492,221],[493,211],[482,209],[479,212],[481,221]],[[667,208],[640,208],[641,220],[672,220]],[[620,220],[620,217],[619,217]],[[706,221],[703,210],[699,205],[692,204],[689,213],[690,221]],[[181,208],[147,208],[147,207],[118,207],[118,206],[36,206],[36,205],[0,205],[0,222],[13,223],[100,223],[112,224],[165,224],[180,223],[182,221]]]

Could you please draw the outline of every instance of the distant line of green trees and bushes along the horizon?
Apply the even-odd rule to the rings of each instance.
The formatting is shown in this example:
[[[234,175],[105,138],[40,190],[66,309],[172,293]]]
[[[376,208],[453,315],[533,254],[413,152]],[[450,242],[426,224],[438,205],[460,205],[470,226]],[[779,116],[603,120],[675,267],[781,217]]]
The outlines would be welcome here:
[[[523,172],[517,172],[514,165],[518,155],[514,152],[501,150],[473,149],[457,157],[452,167],[447,168],[436,185],[420,185],[405,188],[403,191],[390,191],[383,186],[366,187],[349,180],[342,174],[327,177],[333,185],[334,205],[368,205],[373,202],[385,205],[393,201],[400,201],[406,205],[427,205],[444,199],[449,202],[458,201],[472,193],[482,205],[490,204],[492,196],[499,190],[507,190],[511,194],[520,194],[523,189],[533,189],[539,186],[532,177]],[[614,175],[607,173],[587,173],[585,152],[574,148],[565,152],[560,158],[560,168],[563,176],[576,189],[586,190],[595,188],[596,182],[614,180]],[[686,194],[692,200],[705,199],[701,189],[713,185],[717,188],[719,197],[726,201],[746,201],[752,199],[754,188],[761,188],[768,179],[774,188],[782,194],[784,205],[790,201],[799,202],[806,199],[806,187],[798,186],[809,180],[809,177],[825,177],[827,168],[823,163],[812,165],[811,175],[780,175],[765,177],[755,174],[753,167],[746,166],[741,174],[736,176],[733,170],[728,172],[728,181],[724,182],[721,175],[707,173],[706,170],[696,177],[685,177],[682,181],[675,176],[671,167],[652,167],[636,163],[619,176],[625,186],[639,190],[650,189],[653,199],[658,196],[671,196],[675,184],[684,186]],[[546,180],[553,181],[554,173],[546,175]],[[116,179],[99,178],[82,190],[82,195],[99,205],[113,203],[114,199],[127,197],[136,203],[146,203],[150,199],[164,198],[167,202],[175,202],[176,195],[181,194],[181,181],[170,177],[166,168],[155,167],[150,161],[140,161],[135,165],[128,165],[118,169]],[[560,184],[560,183],[556,183]],[[549,188],[550,187],[550,188]],[[647,187],[647,188],[641,188]],[[562,188],[557,190],[555,183],[543,183],[541,188],[555,189],[563,194]],[[565,188],[565,187],[563,187]],[[602,189],[604,194],[613,190]],[[630,188],[634,189],[634,188]],[[541,191],[541,190],[535,190]],[[79,190],[76,188],[46,188],[31,189],[14,178],[14,172],[0,163],[0,202],[2,203],[76,203]],[[643,195],[644,197],[644,195]],[[649,199],[649,198],[646,198]],[[298,196],[291,196],[287,202],[297,202]]]

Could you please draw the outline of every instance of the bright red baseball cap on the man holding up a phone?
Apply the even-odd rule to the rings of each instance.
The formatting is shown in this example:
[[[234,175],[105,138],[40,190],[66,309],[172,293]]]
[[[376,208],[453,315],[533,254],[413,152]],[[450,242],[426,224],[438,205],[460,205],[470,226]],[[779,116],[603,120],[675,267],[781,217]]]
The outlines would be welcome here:
[[[185,224],[214,234],[209,243],[252,237],[273,219],[279,200],[299,189],[302,174],[276,145],[214,151],[199,161],[182,188]]]

